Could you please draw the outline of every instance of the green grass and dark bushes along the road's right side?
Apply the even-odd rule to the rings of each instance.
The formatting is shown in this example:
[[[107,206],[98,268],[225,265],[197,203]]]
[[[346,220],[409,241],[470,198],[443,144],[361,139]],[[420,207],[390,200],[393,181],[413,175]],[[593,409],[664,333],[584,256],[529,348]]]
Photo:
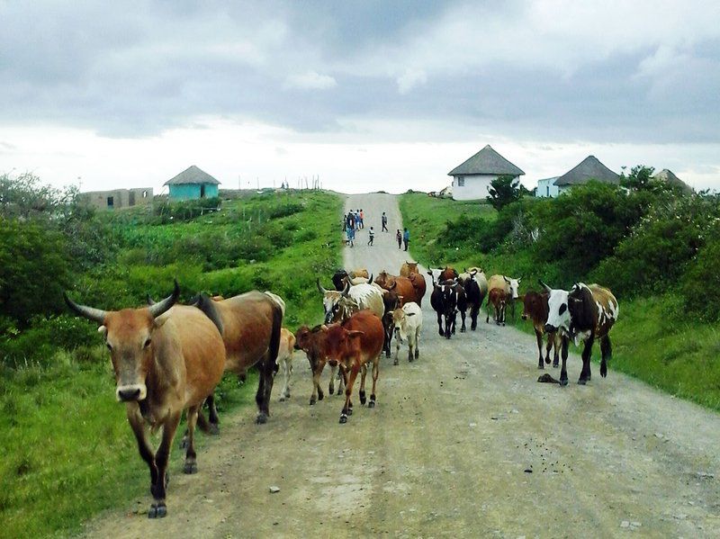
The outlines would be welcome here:
[[[720,410],[720,196],[648,185],[642,166],[631,176],[629,192],[590,183],[497,212],[403,195],[404,222],[421,230],[410,250],[426,265],[522,275],[521,292],[539,290],[538,279],[608,286],[620,301],[611,368]]]

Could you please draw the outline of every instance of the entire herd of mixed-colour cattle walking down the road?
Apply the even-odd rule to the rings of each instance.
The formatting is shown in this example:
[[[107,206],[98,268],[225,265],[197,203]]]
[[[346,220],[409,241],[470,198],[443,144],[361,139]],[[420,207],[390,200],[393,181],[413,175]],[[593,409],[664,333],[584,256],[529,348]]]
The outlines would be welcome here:
[[[611,355],[608,332],[617,319],[617,300],[595,284],[576,283],[570,291],[551,289],[543,283],[542,292],[518,293],[521,278],[492,275],[487,279],[481,268],[458,273],[454,268],[430,269],[430,304],[437,313],[441,336],[455,334],[460,314],[460,332],[470,311],[471,329],[477,328],[482,302],[487,297],[486,322],[492,314],[495,323],[504,325],[506,308],[514,312],[516,301],[523,302],[523,319],[532,319],[539,350],[538,367],[543,368],[543,337],[547,336],[545,362],[550,363],[554,347],[554,366],[562,356],[560,383],[567,384],[568,343],[585,342],[582,371],[578,383],[590,380],[590,354],[595,339],[600,341],[600,374],[607,374]],[[98,324],[110,351],[115,373],[117,400],[126,405],[130,427],[136,436],[139,454],[148,463],[153,503],[148,517],[166,516],[167,461],[175,431],[186,410],[187,432],[184,472],[197,471],[194,430],[216,434],[219,418],[213,391],[224,372],[244,379],[247,369],[257,366],[259,382],[256,394],[257,423],[265,423],[270,414],[270,396],[275,373],[282,367],[284,385],[280,400],[290,397],[293,350],[308,357],[312,373],[310,403],[323,399],[320,375],[330,365],[329,393],[345,388],[340,423],[352,415],[352,393],[360,374],[359,399],[373,408],[376,402],[380,358],[383,352],[399,363],[401,343],[408,343],[408,361],[419,358],[422,330],[422,301],[427,292],[425,276],[417,263],[406,262],[400,274],[386,271],[376,278],[365,269],[340,270],[332,276],[332,289],[317,281],[323,297],[325,323],[302,326],[294,334],[282,328],[285,304],[272,292],[247,292],[224,299],[221,296],[196,296],[191,304],[177,303],[179,287],[162,301],[148,299],[148,307],[105,311],[79,305],[65,296],[67,305],[78,315]],[[373,387],[370,399],[365,393],[365,376],[372,365]],[[202,412],[209,408],[208,418]],[[162,429],[157,452],[148,442],[148,429]]]

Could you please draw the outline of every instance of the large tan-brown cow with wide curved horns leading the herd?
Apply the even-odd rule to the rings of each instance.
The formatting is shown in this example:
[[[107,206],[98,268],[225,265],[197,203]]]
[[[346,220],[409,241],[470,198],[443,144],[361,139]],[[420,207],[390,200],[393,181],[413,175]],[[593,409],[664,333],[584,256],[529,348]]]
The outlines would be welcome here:
[[[167,461],[184,409],[189,431],[184,472],[197,472],[198,410],[220,382],[225,364],[218,328],[194,307],[175,305],[179,294],[175,283],[171,296],[150,307],[108,311],[78,305],[65,294],[70,309],[101,324],[98,330],[115,372],[115,396],[125,403],[139,454],[150,469],[150,518],[167,514]],[[148,442],[148,427],[163,431],[156,453]]]

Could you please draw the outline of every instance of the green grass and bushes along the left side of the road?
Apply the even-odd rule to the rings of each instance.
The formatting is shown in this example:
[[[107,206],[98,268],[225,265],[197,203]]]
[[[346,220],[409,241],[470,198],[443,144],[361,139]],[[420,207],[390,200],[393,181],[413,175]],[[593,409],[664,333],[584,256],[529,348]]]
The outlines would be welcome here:
[[[95,213],[75,191],[33,176],[0,176],[0,195],[3,535],[73,533],[123,500],[146,508],[148,472],[114,400],[96,327],[67,313],[62,291],[119,309],[144,304],[148,293],[166,296],[177,278],[184,299],[271,290],[287,303],[285,326],[317,323],[314,278],[338,265],[342,201],[323,192],[252,193]],[[243,385],[226,376],[216,391],[220,411],[254,406],[256,389],[254,373]],[[198,437],[201,465],[209,440]],[[181,472],[177,457],[171,474]]]

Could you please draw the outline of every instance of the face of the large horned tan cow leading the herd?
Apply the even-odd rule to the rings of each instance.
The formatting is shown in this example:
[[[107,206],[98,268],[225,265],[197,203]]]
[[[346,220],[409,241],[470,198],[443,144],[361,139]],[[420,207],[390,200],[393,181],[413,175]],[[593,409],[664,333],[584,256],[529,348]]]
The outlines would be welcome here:
[[[109,312],[99,328],[110,350],[115,397],[121,402],[144,400],[145,380],[153,361],[152,334],[157,324],[147,309]]]

